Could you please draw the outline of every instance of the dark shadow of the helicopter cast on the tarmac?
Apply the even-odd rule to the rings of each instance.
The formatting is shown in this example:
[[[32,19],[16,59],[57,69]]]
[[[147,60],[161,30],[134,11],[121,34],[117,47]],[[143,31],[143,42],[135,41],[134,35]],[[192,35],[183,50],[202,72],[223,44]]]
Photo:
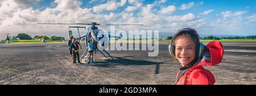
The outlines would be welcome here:
[[[141,59],[128,59],[125,57],[118,58],[118,60],[112,60],[112,59],[106,59],[106,60],[100,60],[97,61],[96,63],[84,63],[80,64],[82,66],[94,66],[94,67],[113,67],[116,68],[115,66],[130,66],[130,65],[135,65],[135,66],[147,66],[147,65],[156,65],[155,66],[155,74],[159,74],[159,68],[160,64],[163,64],[165,62],[169,62],[171,60],[167,60],[164,62],[150,62],[147,60],[141,60]]]

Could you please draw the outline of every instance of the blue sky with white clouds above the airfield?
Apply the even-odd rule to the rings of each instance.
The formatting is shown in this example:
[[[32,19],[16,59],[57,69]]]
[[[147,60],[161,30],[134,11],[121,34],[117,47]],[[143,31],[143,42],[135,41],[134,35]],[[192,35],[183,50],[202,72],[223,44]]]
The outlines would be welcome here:
[[[0,0],[0,32],[15,36],[67,36],[68,25],[36,23],[144,24],[123,30],[174,33],[193,27],[200,34],[256,35],[255,0]],[[109,30],[108,26],[100,29]],[[75,31],[75,29],[74,29]],[[82,30],[84,31],[84,30]],[[84,32],[82,32],[84,33]]]

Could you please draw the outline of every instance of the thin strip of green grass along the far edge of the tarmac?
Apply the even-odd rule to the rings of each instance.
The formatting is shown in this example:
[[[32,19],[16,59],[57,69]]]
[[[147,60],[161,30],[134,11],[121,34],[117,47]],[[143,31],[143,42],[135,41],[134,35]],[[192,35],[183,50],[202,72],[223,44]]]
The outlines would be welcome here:
[[[126,41],[126,42],[133,42],[133,40],[118,40],[119,42]],[[116,41],[116,42],[118,42]],[[134,40],[134,42],[146,42],[149,40]],[[154,40],[152,40],[154,41]],[[200,40],[201,42],[210,42],[210,41],[220,41],[220,42],[256,42],[256,39],[254,40]],[[82,41],[84,43],[85,41]],[[115,41],[110,41],[115,42]],[[159,42],[170,42],[170,40],[159,40]],[[7,41],[5,42],[7,43]],[[10,42],[10,43],[43,43],[40,40],[18,40],[17,42]],[[67,43],[67,41],[46,41],[46,43]]]

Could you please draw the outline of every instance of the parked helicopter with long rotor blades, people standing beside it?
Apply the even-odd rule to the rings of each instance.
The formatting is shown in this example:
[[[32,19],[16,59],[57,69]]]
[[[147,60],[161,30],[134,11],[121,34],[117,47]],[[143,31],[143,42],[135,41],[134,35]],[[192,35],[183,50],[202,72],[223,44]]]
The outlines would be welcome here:
[[[113,56],[111,56],[106,50],[105,48],[108,47],[109,45],[109,41],[110,38],[114,38],[115,40],[119,40],[120,38],[122,38],[122,34],[119,34],[119,36],[111,36],[110,32],[104,32],[104,30],[98,29],[98,27],[96,27],[96,25],[100,25],[99,23],[96,22],[92,22],[92,23],[38,23],[38,24],[65,24],[65,25],[91,25],[91,27],[88,28],[88,32],[86,32],[85,34],[80,36],[80,32],[79,32],[79,28],[84,28],[86,30],[86,27],[71,27],[69,26],[69,37],[72,36],[72,31],[70,30],[70,28],[77,28],[78,33],[79,33],[79,37],[77,40],[79,40],[80,42],[80,38],[84,38],[85,37],[85,46],[86,46],[86,50],[84,51],[84,53],[82,54],[82,56],[80,57],[80,60],[82,59],[86,59],[88,57],[86,57],[86,52],[88,51],[88,43],[87,41],[89,40],[89,38],[93,38],[93,40],[96,40],[96,42],[94,42],[96,46],[96,50],[94,51],[100,51],[100,53],[106,57],[106,55],[104,53],[102,53],[102,51],[104,51],[106,54],[108,54],[110,56],[110,58],[112,60]],[[103,25],[143,25],[143,24],[103,24]],[[90,34],[90,35],[89,35]],[[100,46],[100,47],[98,47]]]

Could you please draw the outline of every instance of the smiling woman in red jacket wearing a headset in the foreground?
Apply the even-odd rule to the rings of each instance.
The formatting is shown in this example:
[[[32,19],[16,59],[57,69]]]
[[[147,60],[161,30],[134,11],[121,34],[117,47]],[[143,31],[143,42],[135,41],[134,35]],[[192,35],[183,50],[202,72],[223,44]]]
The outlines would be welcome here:
[[[213,74],[203,65],[213,66],[221,63],[224,54],[220,42],[212,41],[204,46],[199,41],[195,29],[178,30],[169,45],[170,54],[177,59],[181,67],[176,76],[177,85],[212,85],[215,82]]]

